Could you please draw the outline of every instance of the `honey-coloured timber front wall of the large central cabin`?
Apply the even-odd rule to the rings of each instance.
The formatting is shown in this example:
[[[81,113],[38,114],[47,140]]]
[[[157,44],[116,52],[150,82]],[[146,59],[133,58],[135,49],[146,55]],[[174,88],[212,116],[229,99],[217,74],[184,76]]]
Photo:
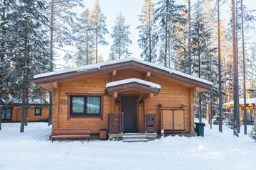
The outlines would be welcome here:
[[[116,105],[115,98],[112,96],[104,96],[103,120],[100,118],[70,118],[68,120],[68,96],[65,93],[105,94],[107,83],[122,79],[137,78],[161,85],[161,91],[157,96],[145,99],[143,106],[138,105],[139,131],[144,131],[144,114],[156,114],[156,130],[159,130],[159,104],[164,107],[181,107],[182,105],[186,105],[186,131],[193,131],[191,125],[193,124],[193,114],[191,114],[191,109],[193,109],[191,105],[191,102],[193,102],[193,94],[191,94],[190,91],[191,87],[175,84],[173,81],[164,79],[155,74],[151,74],[151,77],[146,78],[144,75],[145,72],[137,70],[117,70],[117,75],[114,78],[112,77],[112,72],[108,72],[69,79],[67,81],[58,81],[58,83],[53,86],[53,129],[90,128],[92,133],[98,133],[101,128],[107,128],[108,114],[112,113],[112,107],[114,106],[114,113],[119,113],[120,105]],[[56,113],[58,113],[58,115]]]

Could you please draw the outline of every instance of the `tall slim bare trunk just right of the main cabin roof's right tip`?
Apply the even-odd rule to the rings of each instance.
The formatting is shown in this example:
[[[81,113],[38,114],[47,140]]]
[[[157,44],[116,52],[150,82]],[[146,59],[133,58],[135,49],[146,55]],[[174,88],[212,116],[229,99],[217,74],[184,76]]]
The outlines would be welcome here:
[[[219,78],[219,131],[222,132],[222,88],[221,88],[221,62],[220,62],[220,1],[218,0],[218,78]]]

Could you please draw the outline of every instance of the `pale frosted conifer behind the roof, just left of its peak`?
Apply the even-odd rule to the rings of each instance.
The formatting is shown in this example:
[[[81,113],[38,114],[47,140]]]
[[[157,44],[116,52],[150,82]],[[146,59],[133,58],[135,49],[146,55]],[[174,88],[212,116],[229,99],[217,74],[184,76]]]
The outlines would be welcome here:
[[[125,18],[121,12],[117,13],[116,20],[114,21],[113,33],[110,35],[113,38],[113,44],[110,48],[113,57],[119,59],[124,55],[131,55],[128,51],[128,46],[132,45],[132,40],[129,39],[129,25],[125,25]]]

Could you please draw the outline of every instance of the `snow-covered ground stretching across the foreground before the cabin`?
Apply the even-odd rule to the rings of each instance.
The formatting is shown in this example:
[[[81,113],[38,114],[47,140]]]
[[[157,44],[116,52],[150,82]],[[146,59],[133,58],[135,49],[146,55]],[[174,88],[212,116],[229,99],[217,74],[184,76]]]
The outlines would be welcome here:
[[[233,136],[223,125],[205,127],[205,137],[165,137],[147,143],[48,140],[47,123],[3,123],[0,169],[255,169],[256,142]],[[248,131],[251,127],[248,126]],[[241,129],[241,132],[242,129]]]

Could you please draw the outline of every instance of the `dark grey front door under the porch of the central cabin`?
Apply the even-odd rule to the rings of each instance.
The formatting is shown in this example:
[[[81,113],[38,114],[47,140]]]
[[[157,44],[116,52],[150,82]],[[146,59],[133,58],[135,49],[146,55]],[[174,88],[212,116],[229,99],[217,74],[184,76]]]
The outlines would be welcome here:
[[[124,131],[137,131],[137,97],[122,96],[121,111],[124,114]]]

